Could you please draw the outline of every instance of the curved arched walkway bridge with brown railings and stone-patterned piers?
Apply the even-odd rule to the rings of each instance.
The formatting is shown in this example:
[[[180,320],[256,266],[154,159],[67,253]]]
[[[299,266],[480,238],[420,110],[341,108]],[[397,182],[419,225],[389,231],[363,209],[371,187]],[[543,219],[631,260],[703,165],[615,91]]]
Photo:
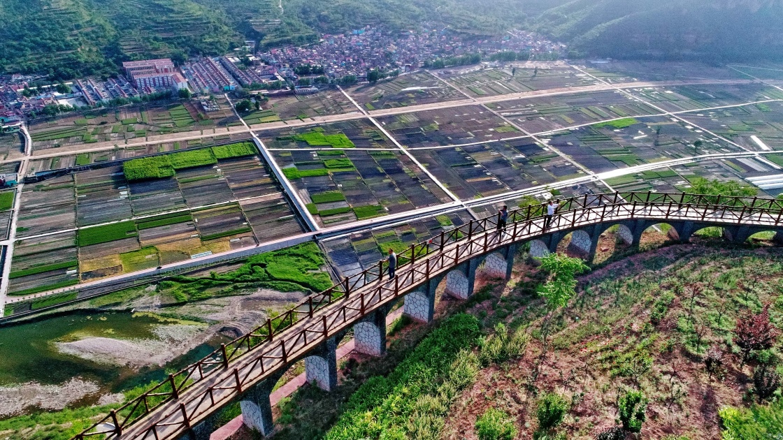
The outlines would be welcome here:
[[[283,373],[301,359],[309,382],[330,390],[337,386],[337,343],[354,330],[355,349],[369,355],[385,350],[385,316],[404,298],[404,312],[428,322],[435,308],[435,288],[446,280],[446,293],[469,298],[477,270],[508,278],[519,246],[530,254],[554,252],[572,233],[570,246],[592,259],[598,237],[619,225],[626,243],[638,243],[651,225],[672,226],[677,238],[709,226],[744,242],[754,233],[783,230],[783,201],[756,197],[691,194],[596,194],[562,200],[546,226],[543,205],[510,211],[503,233],[497,219],[484,218],[417,243],[399,255],[397,276],[384,276],[384,263],[350,277],[296,307],[269,319],[251,333],[171,374],[139,398],[74,438],[168,440],[209,438],[215,413],[240,400],[245,423],[262,434],[273,430],[269,394]]]

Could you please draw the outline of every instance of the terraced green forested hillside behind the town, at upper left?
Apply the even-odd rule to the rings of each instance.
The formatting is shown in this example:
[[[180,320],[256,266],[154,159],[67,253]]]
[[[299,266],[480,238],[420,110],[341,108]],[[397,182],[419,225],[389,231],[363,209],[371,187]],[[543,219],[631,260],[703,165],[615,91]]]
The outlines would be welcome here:
[[[546,0],[530,0],[541,4]],[[222,54],[244,39],[302,44],[319,32],[420,23],[498,34],[524,23],[526,0],[2,0],[0,73],[73,78],[121,61]],[[543,8],[530,9],[539,13]]]

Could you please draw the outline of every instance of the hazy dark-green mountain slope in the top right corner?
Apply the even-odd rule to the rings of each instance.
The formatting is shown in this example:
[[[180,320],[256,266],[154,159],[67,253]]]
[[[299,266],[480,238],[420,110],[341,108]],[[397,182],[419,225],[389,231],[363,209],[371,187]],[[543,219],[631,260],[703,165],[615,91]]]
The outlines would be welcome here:
[[[780,0],[573,0],[531,25],[590,56],[783,59]]]

